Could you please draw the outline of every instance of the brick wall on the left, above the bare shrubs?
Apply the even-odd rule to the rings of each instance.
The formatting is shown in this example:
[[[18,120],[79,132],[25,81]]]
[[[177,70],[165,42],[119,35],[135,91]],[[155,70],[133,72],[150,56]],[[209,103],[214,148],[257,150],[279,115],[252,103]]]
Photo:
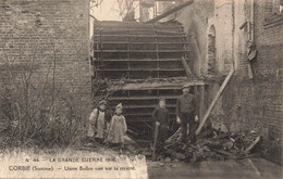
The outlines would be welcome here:
[[[90,97],[88,0],[0,0],[0,68],[7,79],[29,74],[40,84]],[[54,77],[54,78],[53,78]],[[5,80],[7,79],[7,80]]]

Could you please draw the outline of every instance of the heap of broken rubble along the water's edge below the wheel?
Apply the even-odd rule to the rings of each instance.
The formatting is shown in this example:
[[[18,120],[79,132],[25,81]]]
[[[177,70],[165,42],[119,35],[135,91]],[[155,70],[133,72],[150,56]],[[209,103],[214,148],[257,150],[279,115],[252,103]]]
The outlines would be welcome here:
[[[160,162],[202,162],[225,161],[229,158],[246,158],[258,155],[255,146],[260,140],[256,131],[230,132],[222,124],[212,125],[204,129],[194,143],[182,143],[181,129],[165,141],[162,149],[157,149],[157,159]],[[134,148],[127,145],[126,150],[134,154],[144,154],[150,158],[150,148]]]

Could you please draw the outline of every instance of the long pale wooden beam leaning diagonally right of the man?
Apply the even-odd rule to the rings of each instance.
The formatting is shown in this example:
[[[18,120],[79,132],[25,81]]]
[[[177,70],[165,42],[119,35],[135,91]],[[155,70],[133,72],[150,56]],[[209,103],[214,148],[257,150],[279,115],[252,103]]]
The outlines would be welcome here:
[[[225,80],[223,81],[223,84],[221,85],[220,89],[218,90],[218,93],[217,93],[216,98],[213,99],[212,103],[209,105],[208,111],[207,111],[204,119],[200,122],[200,124],[199,124],[199,126],[198,126],[198,128],[196,130],[196,135],[199,135],[201,128],[204,127],[206,120],[208,119],[211,111],[213,110],[214,105],[217,104],[219,98],[221,97],[223,90],[225,89],[225,87],[226,87],[229,80],[231,79],[232,75],[234,74],[234,72],[235,72],[235,69],[234,69],[234,67],[232,67],[232,69],[230,71],[229,75],[226,76]]]

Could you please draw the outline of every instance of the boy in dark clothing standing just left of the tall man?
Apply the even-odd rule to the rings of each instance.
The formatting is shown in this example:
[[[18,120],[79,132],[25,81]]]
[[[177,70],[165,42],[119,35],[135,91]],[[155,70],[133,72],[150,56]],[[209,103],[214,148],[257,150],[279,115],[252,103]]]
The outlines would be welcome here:
[[[169,111],[165,107],[165,99],[159,100],[159,106],[157,106],[152,113],[155,126],[159,128],[157,141],[162,148],[167,140],[167,132],[169,129]]]

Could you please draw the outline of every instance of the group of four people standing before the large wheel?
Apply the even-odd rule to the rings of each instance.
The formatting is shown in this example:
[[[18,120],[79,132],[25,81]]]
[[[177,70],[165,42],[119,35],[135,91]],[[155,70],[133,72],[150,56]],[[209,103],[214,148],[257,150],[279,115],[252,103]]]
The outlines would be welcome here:
[[[195,141],[195,131],[198,122],[197,99],[194,94],[189,93],[189,86],[183,86],[183,94],[177,98],[176,102],[176,123],[181,125],[181,141],[184,143]],[[123,148],[127,125],[122,112],[123,106],[120,103],[115,106],[115,114],[111,117],[107,111],[107,101],[100,101],[98,107],[89,116],[87,137],[89,139],[95,138],[100,143],[109,142]],[[159,129],[157,141],[159,146],[162,146],[167,139],[170,122],[165,99],[159,100],[159,105],[152,112],[152,119],[155,127]],[[187,129],[189,129],[189,132]]]

